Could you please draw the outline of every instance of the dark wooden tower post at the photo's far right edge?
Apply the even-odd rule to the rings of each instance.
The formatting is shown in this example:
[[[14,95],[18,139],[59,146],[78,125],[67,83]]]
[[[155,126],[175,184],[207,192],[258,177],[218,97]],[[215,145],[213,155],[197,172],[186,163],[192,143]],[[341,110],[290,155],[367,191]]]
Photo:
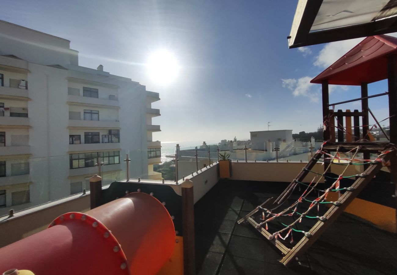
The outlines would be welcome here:
[[[397,145],[397,66],[396,56],[387,58],[387,84],[389,88],[389,125],[390,143]],[[390,160],[390,180],[395,184],[395,194],[397,195],[397,157],[394,153]],[[396,220],[397,220],[397,196],[396,196]]]

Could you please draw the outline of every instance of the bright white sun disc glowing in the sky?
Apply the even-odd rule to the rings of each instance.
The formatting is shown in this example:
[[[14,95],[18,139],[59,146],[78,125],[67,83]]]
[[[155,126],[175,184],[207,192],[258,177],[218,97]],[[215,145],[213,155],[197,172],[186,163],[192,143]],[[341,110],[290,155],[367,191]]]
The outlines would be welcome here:
[[[168,50],[154,52],[148,62],[149,76],[159,84],[167,84],[175,80],[179,66],[175,56]]]

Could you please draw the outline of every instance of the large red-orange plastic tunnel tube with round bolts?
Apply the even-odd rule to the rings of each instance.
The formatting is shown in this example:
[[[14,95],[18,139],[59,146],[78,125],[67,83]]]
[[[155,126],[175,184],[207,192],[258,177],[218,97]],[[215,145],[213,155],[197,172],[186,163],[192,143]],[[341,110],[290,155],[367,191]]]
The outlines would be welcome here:
[[[48,229],[0,248],[0,274],[156,274],[171,257],[175,229],[167,209],[145,193],[87,213],[69,212]]]

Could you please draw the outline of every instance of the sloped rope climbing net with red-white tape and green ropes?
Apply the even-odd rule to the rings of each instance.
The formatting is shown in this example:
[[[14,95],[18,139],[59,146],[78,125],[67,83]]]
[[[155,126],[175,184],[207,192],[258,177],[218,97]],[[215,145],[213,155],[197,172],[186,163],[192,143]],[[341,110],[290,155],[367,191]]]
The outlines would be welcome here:
[[[359,145],[357,147],[355,147],[354,149],[352,149],[351,151],[347,152],[347,153],[353,153],[353,151],[354,151],[353,156],[351,158],[346,158],[346,157],[341,157],[339,155],[339,147],[337,148],[335,155],[331,155],[331,154],[323,151],[322,147],[324,146],[324,144],[325,143],[323,143],[323,145],[317,151],[317,153],[321,153],[323,156],[322,158],[318,159],[318,161],[330,164],[330,165],[328,165],[328,167],[326,167],[326,169],[324,170],[324,173],[320,174],[316,171],[308,170],[307,168],[303,168],[304,171],[315,174],[312,181],[309,184],[306,184],[306,183],[300,182],[297,179],[295,179],[293,181],[292,185],[290,185],[289,188],[287,188],[287,190],[289,189],[290,191],[285,191],[285,192],[287,192],[286,194],[289,194],[289,195],[288,195],[288,198],[284,200],[284,202],[288,201],[289,197],[291,196],[291,194],[293,193],[295,188],[297,188],[297,186],[299,187],[299,191],[301,191],[301,186],[302,186],[303,193],[299,196],[298,199],[296,199],[291,205],[289,205],[289,207],[283,209],[282,211],[280,211],[278,213],[274,213],[274,210],[276,208],[266,209],[262,206],[257,207],[257,209],[261,212],[261,213],[259,212],[261,214],[259,217],[259,220],[261,222],[259,222],[256,225],[257,229],[264,227],[266,230],[268,230],[268,223],[270,224],[270,223],[276,222],[276,223],[278,223],[278,225],[281,225],[281,229],[276,230],[274,233],[270,233],[271,234],[269,236],[270,240],[272,240],[273,238],[275,238],[275,239],[281,238],[282,240],[286,240],[288,238],[288,236],[291,236],[290,243],[292,244],[293,243],[293,236],[292,236],[293,232],[300,232],[300,233],[303,233],[305,236],[310,237],[309,232],[305,232],[304,230],[299,230],[297,228],[299,223],[301,223],[303,219],[316,219],[316,220],[320,220],[320,221],[325,221],[326,218],[324,216],[320,215],[320,205],[327,204],[327,203],[337,205],[337,206],[340,205],[339,201],[327,200],[330,192],[331,191],[337,192],[338,198],[339,198],[341,191],[346,191],[346,190],[353,191],[354,190],[354,188],[351,186],[341,188],[341,186],[340,186],[341,180],[349,179],[349,178],[357,178],[357,177],[358,178],[366,177],[366,174],[364,174],[364,173],[346,176],[345,172],[347,171],[347,168],[349,167],[349,165],[366,165],[368,163],[372,163],[372,164],[376,164],[376,165],[382,164],[383,166],[386,166],[387,163],[385,163],[384,159],[381,157],[383,155],[391,152],[391,151],[385,151],[384,153],[378,155],[378,157],[375,160],[364,160],[364,163],[361,163],[361,162],[359,163],[358,161],[363,161],[363,159],[355,158],[358,151],[360,150]],[[392,150],[392,151],[394,151],[394,150]],[[334,160],[344,161],[344,162],[342,162],[342,163],[334,162]],[[331,167],[331,164],[345,165],[346,167],[343,169],[343,172],[339,176],[331,177],[331,176],[326,175],[326,173],[328,172],[328,170]],[[326,179],[325,181],[331,180],[331,182],[332,182],[332,184],[325,190],[320,189],[318,186],[322,178]],[[317,194],[316,199],[308,199],[309,195],[312,193]],[[306,206],[304,206],[304,205],[306,205]],[[299,212],[298,207],[300,209],[303,208],[304,210]],[[310,212],[313,213],[315,210],[317,210],[317,215],[313,215],[313,214],[310,215]],[[287,216],[295,218],[295,220],[292,223],[290,223],[289,225],[280,221],[281,217],[287,217]],[[280,226],[278,228],[280,228]],[[285,232],[286,232],[286,234],[283,234]]]

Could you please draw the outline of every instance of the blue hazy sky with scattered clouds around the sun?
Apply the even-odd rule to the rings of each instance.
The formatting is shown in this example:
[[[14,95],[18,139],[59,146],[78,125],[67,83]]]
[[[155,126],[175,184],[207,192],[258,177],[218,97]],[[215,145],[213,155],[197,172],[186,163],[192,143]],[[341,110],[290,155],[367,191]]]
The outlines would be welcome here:
[[[152,107],[161,116],[152,123],[162,132],[154,140],[187,145],[249,139],[270,121],[269,130],[293,133],[322,124],[321,85],[309,82],[364,38],[289,49],[297,2],[3,0],[0,19],[68,39],[80,66],[102,64],[160,93]],[[148,70],[159,50],[172,53],[179,67],[168,83]],[[355,86],[330,90],[330,102],[360,97]],[[386,81],[368,85],[370,95],[384,91]],[[369,105],[378,120],[388,117],[387,97]]]

